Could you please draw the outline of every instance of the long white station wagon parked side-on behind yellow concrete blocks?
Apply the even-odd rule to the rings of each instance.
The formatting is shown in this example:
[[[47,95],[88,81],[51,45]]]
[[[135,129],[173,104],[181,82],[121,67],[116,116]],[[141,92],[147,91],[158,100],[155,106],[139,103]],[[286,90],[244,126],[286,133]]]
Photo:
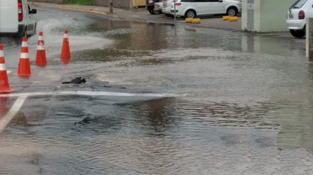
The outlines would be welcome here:
[[[241,12],[241,2],[235,0],[176,0],[176,16],[184,18],[216,14],[227,14],[233,17],[239,12]],[[174,2],[171,14],[174,14]]]

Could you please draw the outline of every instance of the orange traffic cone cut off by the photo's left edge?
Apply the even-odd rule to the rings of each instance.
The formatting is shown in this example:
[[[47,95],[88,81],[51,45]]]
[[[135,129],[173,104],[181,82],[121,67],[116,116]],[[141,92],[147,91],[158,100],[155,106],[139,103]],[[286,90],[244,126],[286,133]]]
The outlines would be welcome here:
[[[10,89],[7,69],[5,68],[5,61],[3,55],[3,46],[0,44],[0,93],[14,92],[14,89]]]

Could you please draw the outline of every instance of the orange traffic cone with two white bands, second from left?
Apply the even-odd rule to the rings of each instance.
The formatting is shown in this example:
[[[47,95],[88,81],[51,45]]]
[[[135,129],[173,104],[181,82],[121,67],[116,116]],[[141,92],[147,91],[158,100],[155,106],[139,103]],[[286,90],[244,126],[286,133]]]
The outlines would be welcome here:
[[[18,73],[14,75],[22,75],[22,76],[34,75],[30,71],[28,45],[27,45],[27,38],[25,36],[23,37],[23,42],[22,42],[22,47],[21,47],[21,56],[20,56],[20,61],[18,64]]]

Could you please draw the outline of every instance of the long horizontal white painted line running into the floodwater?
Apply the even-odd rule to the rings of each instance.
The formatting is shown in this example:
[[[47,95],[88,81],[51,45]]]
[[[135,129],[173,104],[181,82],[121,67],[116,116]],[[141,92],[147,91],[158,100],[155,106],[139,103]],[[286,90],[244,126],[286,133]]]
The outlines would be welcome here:
[[[155,93],[121,93],[121,92],[93,92],[93,91],[77,91],[77,92],[30,92],[30,93],[11,93],[0,94],[0,97],[28,97],[39,95],[98,95],[98,96],[127,96],[127,97],[178,97],[175,94],[155,94]]]

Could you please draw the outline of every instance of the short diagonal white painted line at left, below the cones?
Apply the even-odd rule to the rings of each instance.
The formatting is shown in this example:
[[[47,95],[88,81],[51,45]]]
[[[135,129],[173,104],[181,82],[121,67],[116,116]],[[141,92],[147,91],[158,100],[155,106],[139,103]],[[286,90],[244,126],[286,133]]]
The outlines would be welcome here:
[[[4,128],[13,119],[15,114],[21,109],[26,98],[27,96],[18,97],[8,113],[0,119],[0,133],[3,132]]]

